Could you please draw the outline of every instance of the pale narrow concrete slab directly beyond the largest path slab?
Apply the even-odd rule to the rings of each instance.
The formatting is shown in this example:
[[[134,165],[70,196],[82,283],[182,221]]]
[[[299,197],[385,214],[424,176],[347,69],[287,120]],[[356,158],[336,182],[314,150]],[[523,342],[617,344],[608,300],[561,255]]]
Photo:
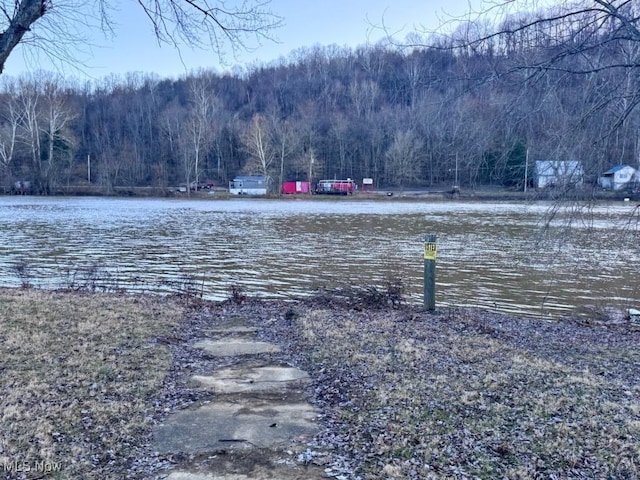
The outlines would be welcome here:
[[[293,367],[226,368],[212,375],[194,375],[193,381],[214,393],[281,391],[310,381],[307,372]]]

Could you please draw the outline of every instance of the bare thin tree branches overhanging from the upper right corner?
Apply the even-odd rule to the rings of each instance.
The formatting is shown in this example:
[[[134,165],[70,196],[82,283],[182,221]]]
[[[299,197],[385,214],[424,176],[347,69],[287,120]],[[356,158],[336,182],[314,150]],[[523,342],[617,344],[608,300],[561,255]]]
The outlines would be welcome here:
[[[524,88],[568,77],[587,81],[597,98],[583,116],[616,109],[601,137],[624,125],[640,104],[640,6],[634,0],[561,0],[540,8],[536,0],[485,1],[458,20],[447,36],[425,44],[458,55],[482,56],[489,78],[516,73]],[[464,21],[462,21],[464,20]],[[613,73],[615,78],[609,75]],[[590,81],[589,79],[597,81]],[[610,88],[602,88],[607,82]]]

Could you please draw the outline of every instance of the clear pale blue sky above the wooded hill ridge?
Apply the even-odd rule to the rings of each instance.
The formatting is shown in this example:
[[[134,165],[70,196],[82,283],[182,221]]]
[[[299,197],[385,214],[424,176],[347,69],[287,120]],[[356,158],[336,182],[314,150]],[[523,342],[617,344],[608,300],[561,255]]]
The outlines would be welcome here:
[[[435,29],[447,15],[459,16],[469,7],[468,0],[271,0],[271,11],[283,18],[284,25],[272,32],[277,42],[265,41],[238,58],[221,64],[217,55],[182,47],[158,45],[151,23],[134,0],[122,0],[114,12],[114,38],[105,38],[98,29],[85,45],[74,47],[74,57],[83,64],[80,70],[65,64],[52,64],[46,56],[34,55],[34,49],[19,46],[9,57],[3,75],[19,76],[34,70],[58,72],[63,76],[101,79],[131,72],[178,78],[190,71],[211,69],[217,72],[268,64],[291,53],[314,46],[357,47],[375,44],[385,37],[380,28],[399,41],[416,30]],[[229,52],[230,53],[230,52]]]

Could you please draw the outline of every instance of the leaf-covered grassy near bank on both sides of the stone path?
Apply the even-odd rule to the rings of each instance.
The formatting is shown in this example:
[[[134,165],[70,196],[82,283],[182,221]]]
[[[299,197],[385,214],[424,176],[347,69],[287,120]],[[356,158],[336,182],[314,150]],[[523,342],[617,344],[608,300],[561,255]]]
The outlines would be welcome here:
[[[151,429],[215,397],[191,375],[229,365],[192,346],[242,317],[311,377],[321,433],[301,462],[363,479],[640,475],[637,326],[430,314],[372,298],[0,290],[0,468],[8,478],[163,478],[180,459],[150,449]]]

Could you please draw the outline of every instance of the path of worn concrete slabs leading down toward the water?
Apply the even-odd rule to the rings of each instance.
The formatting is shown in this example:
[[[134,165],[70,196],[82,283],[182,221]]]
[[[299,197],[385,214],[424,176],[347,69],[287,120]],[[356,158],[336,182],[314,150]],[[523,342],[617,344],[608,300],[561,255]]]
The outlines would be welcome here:
[[[318,412],[304,397],[309,376],[274,360],[279,347],[258,341],[257,333],[236,319],[194,344],[210,358],[234,361],[193,375],[212,400],[177,411],[155,428],[153,449],[175,464],[167,480],[328,478],[317,457],[309,462],[307,442],[318,431]]]

